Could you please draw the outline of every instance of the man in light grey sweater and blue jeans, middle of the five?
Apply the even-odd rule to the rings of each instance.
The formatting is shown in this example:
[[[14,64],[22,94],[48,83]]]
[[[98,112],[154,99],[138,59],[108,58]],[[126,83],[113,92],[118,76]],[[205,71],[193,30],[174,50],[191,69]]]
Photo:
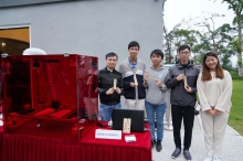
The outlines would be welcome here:
[[[151,147],[156,144],[156,150],[159,152],[162,149],[161,141],[163,138],[163,116],[166,112],[166,90],[165,85],[168,69],[166,69],[161,62],[163,53],[160,50],[155,50],[150,54],[152,66],[146,71],[145,87],[146,94],[146,112],[148,124],[151,130]],[[157,140],[155,136],[155,115],[157,122]]]

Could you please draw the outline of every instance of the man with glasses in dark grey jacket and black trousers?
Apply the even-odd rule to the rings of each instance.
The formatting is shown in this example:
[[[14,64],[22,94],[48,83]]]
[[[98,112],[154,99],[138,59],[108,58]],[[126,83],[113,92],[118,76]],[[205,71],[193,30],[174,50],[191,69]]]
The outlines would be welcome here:
[[[166,78],[166,85],[171,88],[170,104],[173,125],[173,140],[176,150],[171,154],[175,159],[181,152],[181,121],[184,125],[183,154],[187,161],[190,161],[192,128],[194,121],[194,105],[197,101],[197,79],[200,69],[189,60],[191,55],[190,46],[181,45],[178,50],[179,62],[169,69]]]

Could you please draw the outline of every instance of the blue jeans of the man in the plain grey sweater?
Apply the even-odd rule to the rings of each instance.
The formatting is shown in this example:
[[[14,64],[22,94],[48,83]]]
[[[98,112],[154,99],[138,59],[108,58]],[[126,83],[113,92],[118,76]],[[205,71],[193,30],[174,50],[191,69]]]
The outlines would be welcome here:
[[[148,117],[148,124],[151,130],[151,139],[156,140],[155,136],[155,116],[157,124],[157,140],[162,140],[163,138],[163,116],[166,112],[166,103],[160,105],[152,105],[145,101],[145,108]]]

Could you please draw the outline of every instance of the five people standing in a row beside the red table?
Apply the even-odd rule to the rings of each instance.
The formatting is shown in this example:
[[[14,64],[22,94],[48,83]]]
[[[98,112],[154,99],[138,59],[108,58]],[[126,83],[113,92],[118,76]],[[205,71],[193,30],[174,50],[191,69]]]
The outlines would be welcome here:
[[[179,61],[169,71],[162,66],[163,53],[154,50],[150,54],[152,66],[137,57],[139,44],[128,44],[128,58],[116,71],[118,56],[106,54],[106,67],[98,72],[99,117],[109,121],[114,108],[122,108],[120,96],[125,97],[126,108],[146,109],[151,131],[151,147],[162,149],[163,116],[167,108],[166,92],[171,89],[170,103],[176,150],[171,158],[181,153],[181,122],[184,125],[183,155],[192,160],[189,152],[192,140],[194,106],[199,95],[207,157],[203,161],[220,161],[223,138],[231,108],[232,78],[222,69],[215,53],[204,55],[202,71],[190,60],[190,46],[178,49]],[[155,122],[157,132],[155,132]]]

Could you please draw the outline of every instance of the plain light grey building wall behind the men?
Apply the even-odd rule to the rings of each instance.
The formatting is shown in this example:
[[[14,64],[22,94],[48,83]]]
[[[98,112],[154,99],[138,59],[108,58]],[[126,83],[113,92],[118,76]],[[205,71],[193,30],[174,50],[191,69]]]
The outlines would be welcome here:
[[[0,28],[30,25],[31,46],[46,53],[96,55],[99,68],[105,54],[127,58],[130,41],[140,44],[139,57],[162,49],[163,0],[88,0],[0,9]]]

